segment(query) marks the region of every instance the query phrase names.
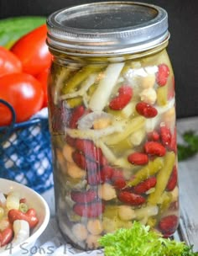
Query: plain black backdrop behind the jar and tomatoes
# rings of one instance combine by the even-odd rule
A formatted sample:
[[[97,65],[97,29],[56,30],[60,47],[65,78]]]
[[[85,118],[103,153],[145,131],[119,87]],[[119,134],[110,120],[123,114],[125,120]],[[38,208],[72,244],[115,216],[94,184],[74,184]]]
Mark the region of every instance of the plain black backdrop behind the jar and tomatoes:
[[[100,0],[0,0],[0,18],[45,15]],[[198,115],[198,0],[147,0],[169,13],[168,52],[175,70],[177,117]]]

